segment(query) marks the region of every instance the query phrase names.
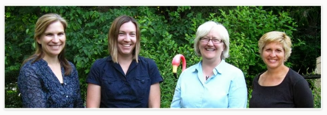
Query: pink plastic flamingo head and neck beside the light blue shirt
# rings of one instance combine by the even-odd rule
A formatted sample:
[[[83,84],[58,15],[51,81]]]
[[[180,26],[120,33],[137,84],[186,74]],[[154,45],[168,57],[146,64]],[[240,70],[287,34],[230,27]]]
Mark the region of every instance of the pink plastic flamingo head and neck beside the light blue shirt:
[[[185,57],[182,54],[177,54],[172,61],[173,64],[173,74],[175,78],[177,79],[177,68],[179,66],[180,60],[182,59],[182,71],[186,69],[186,60]]]

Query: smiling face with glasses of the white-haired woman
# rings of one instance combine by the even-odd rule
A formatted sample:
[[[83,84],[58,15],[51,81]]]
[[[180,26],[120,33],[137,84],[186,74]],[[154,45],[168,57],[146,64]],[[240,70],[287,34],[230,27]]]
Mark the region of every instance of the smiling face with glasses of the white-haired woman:
[[[219,31],[217,29],[212,28],[210,32],[204,36],[203,38],[207,39],[217,39],[221,40],[221,35],[219,34]],[[212,40],[205,43],[200,41],[199,44],[199,50],[201,52],[203,59],[219,59],[221,60],[222,52],[224,51],[224,42],[214,44],[212,43]]]

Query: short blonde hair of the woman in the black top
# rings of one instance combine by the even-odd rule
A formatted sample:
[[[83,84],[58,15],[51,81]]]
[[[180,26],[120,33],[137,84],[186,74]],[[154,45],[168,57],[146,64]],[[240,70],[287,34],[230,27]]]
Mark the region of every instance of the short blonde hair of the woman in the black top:
[[[258,42],[259,53],[262,57],[263,48],[269,43],[279,43],[283,45],[285,51],[285,61],[291,56],[292,53],[292,42],[289,36],[285,32],[270,31],[263,34]]]

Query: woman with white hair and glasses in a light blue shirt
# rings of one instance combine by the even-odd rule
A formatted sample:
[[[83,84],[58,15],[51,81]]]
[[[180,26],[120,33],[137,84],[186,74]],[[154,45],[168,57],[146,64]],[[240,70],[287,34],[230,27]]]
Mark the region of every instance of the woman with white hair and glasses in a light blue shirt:
[[[229,56],[226,28],[213,21],[200,25],[194,50],[202,60],[180,74],[171,108],[246,108],[243,72],[225,62]]]

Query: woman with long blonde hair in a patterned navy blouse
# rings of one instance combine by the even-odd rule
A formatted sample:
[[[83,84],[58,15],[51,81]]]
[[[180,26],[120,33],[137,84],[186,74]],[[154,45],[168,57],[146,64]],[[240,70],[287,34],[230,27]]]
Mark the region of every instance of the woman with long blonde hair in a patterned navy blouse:
[[[23,107],[84,107],[77,70],[64,55],[66,28],[58,14],[45,14],[36,22],[36,52],[24,60],[18,76]]]

